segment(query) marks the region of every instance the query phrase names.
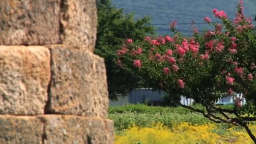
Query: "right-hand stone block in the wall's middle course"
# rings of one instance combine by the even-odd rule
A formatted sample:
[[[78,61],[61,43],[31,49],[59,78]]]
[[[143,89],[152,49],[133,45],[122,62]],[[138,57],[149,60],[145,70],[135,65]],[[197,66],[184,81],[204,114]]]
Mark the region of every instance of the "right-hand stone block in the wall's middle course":
[[[107,76],[104,59],[65,45],[51,51],[51,83],[46,113],[106,117]]]

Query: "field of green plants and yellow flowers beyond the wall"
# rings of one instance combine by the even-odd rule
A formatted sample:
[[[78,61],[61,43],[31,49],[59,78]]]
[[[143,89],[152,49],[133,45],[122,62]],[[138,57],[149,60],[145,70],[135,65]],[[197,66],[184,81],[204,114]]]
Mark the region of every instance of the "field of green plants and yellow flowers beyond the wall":
[[[203,109],[199,104],[192,107]],[[220,106],[232,109],[233,105]],[[251,143],[246,131],[238,126],[216,124],[183,107],[155,107],[145,104],[128,104],[119,107],[109,107],[108,118],[115,123],[115,143],[117,144],[240,144]],[[162,126],[155,126],[160,123]],[[251,125],[256,133],[256,125]],[[179,141],[181,140],[182,141]],[[189,140],[188,140],[189,139]],[[191,144],[192,144],[191,143]]]

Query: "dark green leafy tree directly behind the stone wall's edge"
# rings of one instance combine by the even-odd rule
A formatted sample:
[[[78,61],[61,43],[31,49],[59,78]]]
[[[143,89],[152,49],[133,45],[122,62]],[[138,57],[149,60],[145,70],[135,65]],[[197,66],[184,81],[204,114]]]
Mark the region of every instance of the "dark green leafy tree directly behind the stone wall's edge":
[[[110,0],[98,0],[98,32],[95,53],[105,59],[109,98],[116,94],[126,94],[139,86],[139,77],[117,67],[116,50],[120,49],[126,38],[143,40],[153,34],[154,28],[147,25],[150,17],[134,20],[134,13],[124,14],[123,9],[115,8]]]

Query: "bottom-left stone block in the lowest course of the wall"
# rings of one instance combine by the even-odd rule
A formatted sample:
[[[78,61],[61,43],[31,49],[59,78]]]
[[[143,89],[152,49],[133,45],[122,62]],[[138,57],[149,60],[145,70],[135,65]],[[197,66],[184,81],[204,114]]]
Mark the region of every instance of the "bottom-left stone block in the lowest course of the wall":
[[[43,127],[34,116],[0,115],[0,144],[42,144]]]

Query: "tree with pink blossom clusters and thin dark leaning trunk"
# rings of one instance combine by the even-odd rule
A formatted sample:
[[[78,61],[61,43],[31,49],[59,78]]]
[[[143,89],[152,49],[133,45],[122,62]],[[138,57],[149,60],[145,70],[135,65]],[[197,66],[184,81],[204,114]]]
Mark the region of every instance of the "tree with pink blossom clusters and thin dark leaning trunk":
[[[256,31],[252,19],[245,17],[242,4],[240,0],[234,21],[229,21],[224,11],[213,9],[223,24],[205,17],[215,29],[203,35],[193,25],[194,35],[186,39],[176,31],[174,21],[170,23],[174,37],[145,37],[143,42],[128,39],[117,51],[117,64],[142,77],[148,86],[168,93],[171,101],[179,103],[183,95],[202,104],[205,110],[179,103],[182,107],[216,123],[243,126],[256,143],[248,127],[248,122],[256,121]],[[237,93],[243,93],[247,104],[242,106]],[[227,95],[235,97],[233,109],[215,105]]]

